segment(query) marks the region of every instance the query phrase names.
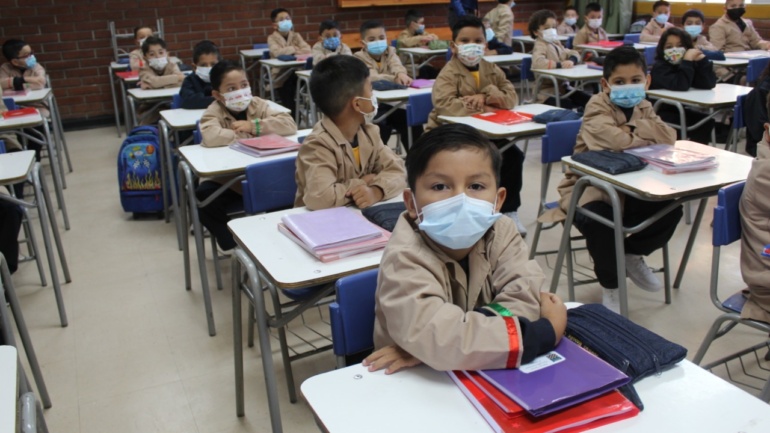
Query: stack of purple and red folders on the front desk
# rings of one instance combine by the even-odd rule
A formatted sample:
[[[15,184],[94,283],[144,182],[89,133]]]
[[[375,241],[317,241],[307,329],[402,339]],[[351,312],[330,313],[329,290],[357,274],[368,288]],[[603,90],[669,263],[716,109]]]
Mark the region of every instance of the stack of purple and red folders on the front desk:
[[[518,369],[449,376],[497,433],[580,432],[639,413],[617,390],[630,378],[566,338]]]

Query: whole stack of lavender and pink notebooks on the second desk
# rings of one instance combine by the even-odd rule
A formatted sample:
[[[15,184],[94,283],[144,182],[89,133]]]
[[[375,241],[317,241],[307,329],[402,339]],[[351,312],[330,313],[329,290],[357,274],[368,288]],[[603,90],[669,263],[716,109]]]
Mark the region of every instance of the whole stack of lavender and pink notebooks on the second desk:
[[[346,207],[285,215],[278,231],[326,263],[385,248],[390,232]]]

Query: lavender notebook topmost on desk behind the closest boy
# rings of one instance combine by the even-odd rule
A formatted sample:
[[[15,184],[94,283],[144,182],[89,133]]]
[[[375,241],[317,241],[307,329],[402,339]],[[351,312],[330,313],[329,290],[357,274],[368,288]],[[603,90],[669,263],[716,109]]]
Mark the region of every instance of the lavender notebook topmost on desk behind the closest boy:
[[[346,207],[285,215],[281,222],[313,250],[382,236],[379,227]]]

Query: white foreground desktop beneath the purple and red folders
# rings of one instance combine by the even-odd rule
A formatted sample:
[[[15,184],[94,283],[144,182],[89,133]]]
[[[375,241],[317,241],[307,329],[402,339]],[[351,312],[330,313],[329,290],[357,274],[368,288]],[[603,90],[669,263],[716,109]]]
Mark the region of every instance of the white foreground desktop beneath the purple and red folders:
[[[592,433],[770,431],[770,406],[687,360],[635,387],[644,411]],[[424,365],[392,375],[352,365],[311,377],[302,394],[329,433],[493,431],[445,372]]]

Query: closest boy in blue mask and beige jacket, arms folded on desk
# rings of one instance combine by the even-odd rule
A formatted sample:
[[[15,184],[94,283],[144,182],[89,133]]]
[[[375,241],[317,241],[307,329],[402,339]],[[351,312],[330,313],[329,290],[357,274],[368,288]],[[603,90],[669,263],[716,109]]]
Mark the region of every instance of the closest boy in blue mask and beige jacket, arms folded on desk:
[[[462,124],[425,133],[407,156],[407,211],[380,264],[370,371],[516,368],[561,339],[566,308],[540,292],[542,270],[501,218],[501,159]]]

